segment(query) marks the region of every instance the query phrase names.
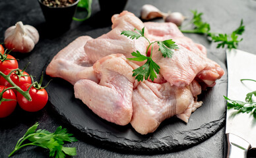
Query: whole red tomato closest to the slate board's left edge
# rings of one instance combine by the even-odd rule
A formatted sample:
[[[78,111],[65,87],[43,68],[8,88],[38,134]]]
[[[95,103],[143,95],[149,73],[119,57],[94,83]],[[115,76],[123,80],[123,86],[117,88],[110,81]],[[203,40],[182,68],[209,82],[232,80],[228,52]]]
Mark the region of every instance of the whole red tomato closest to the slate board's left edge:
[[[20,88],[23,91],[26,91],[30,85],[31,84],[23,84],[20,86]],[[24,111],[35,112],[43,109],[43,107],[46,106],[48,101],[48,93],[44,88],[41,90],[36,90],[36,88],[32,86],[32,88],[29,90],[29,94],[32,97],[32,101],[28,101],[22,94],[17,93],[18,105],[20,105]]]

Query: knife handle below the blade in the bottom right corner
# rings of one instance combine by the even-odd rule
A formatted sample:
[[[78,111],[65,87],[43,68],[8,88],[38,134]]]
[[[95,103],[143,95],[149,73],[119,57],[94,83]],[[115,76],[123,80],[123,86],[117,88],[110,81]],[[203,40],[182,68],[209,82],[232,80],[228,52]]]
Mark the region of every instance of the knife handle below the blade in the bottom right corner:
[[[247,151],[251,148],[251,144],[243,140],[243,138],[235,134],[226,134],[227,138],[227,158],[247,157]]]

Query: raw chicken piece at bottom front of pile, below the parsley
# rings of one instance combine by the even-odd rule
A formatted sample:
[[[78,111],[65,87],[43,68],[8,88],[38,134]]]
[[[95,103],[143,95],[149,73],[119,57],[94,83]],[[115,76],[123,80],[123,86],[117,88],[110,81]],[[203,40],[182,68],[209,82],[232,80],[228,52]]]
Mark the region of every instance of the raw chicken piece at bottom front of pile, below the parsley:
[[[133,90],[131,125],[140,134],[148,134],[154,132],[163,120],[174,115],[188,122],[192,109],[195,111],[201,104],[194,100],[189,86],[178,88],[168,82],[156,84],[143,81]]]

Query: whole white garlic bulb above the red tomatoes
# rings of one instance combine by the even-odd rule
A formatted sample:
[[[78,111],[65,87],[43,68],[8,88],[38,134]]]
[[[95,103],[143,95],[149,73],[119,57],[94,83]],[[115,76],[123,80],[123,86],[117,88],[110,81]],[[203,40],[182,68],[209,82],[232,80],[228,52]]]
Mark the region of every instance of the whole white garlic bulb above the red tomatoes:
[[[38,30],[33,26],[23,25],[21,21],[5,31],[5,47],[12,51],[28,53],[38,40]]]

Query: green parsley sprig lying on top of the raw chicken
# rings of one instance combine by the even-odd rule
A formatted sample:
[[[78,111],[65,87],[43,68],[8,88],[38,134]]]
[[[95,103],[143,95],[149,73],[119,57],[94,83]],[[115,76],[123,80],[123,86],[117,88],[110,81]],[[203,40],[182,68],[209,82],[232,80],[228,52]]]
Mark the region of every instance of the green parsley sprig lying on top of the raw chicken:
[[[139,39],[139,38],[145,38],[149,45],[146,49],[146,53],[148,52],[148,49],[151,47],[151,50],[153,50],[153,45],[154,43],[157,43],[159,46],[159,51],[162,53],[163,57],[169,57],[172,58],[172,55],[174,54],[174,51],[172,49],[179,49],[177,45],[175,44],[175,41],[172,41],[172,39],[168,39],[165,41],[153,41],[150,42],[148,38],[144,36],[144,28],[142,30],[137,30],[135,28],[135,31],[133,32],[130,30],[122,31],[121,35],[127,36],[127,38],[131,39]],[[133,58],[127,58],[131,61],[146,61],[143,66],[140,66],[139,68],[136,68],[133,70],[133,76],[136,76],[135,79],[138,81],[143,81],[147,80],[150,78],[150,80],[154,81],[154,78],[157,78],[156,74],[159,74],[160,72],[160,66],[157,65],[153,60],[152,60],[152,51],[150,53],[150,57],[147,57],[145,55],[142,55],[139,51],[136,51],[131,53],[133,55]]]

